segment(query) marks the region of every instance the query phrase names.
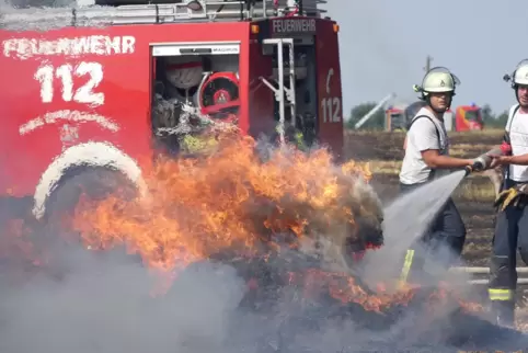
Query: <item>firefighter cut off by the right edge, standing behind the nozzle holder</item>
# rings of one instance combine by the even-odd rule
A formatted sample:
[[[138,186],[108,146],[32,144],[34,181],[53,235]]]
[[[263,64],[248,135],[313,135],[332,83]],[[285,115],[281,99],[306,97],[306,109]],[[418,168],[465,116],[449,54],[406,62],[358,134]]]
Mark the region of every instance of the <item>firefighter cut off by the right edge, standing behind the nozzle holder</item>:
[[[517,286],[516,250],[528,264],[528,59],[504,77],[512,81],[517,103],[509,109],[503,153],[492,166],[504,167],[502,192],[495,201],[497,215],[490,262],[489,296],[497,324],[513,327]]]

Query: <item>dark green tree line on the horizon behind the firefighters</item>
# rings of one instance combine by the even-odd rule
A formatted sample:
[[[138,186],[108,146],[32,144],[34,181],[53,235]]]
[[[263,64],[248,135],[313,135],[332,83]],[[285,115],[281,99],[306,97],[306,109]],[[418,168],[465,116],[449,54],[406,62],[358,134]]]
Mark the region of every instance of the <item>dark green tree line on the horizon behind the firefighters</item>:
[[[378,104],[377,102],[366,102],[354,106],[351,110],[349,118],[346,119],[346,128],[354,129],[354,125],[367,114],[372,107]],[[492,111],[489,104],[481,107],[482,119],[484,121],[484,128],[504,128],[508,119],[508,112],[495,113]],[[359,129],[366,130],[381,130],[384,129],[384,110],[378,110],[371,117],[363,124]]]

